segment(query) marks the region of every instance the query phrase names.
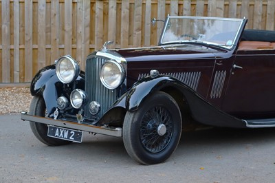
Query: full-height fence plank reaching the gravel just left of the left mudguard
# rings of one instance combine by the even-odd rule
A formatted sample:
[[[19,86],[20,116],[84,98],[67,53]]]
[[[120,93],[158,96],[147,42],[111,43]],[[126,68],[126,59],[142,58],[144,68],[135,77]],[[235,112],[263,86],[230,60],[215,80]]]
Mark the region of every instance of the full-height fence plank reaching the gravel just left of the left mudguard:
[[[25,1],[25,82],[32,80],[32,0]]]

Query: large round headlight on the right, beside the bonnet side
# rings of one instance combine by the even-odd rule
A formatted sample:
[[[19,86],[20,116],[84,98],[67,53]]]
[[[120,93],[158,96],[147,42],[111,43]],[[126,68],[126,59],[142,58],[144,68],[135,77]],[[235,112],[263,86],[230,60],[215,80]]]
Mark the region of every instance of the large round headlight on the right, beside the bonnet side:
[[[101,67],[100,80],[108,89],[115,89],[124,80],[124,69],[115,61],[106,61]]]

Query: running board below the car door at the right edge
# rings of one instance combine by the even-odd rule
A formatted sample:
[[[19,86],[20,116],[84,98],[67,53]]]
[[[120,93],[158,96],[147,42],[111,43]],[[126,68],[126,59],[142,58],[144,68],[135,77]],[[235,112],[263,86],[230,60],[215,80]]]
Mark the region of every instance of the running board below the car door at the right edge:
[[[243,120],[248,128],[268,128],[275,127],[275,118]]]

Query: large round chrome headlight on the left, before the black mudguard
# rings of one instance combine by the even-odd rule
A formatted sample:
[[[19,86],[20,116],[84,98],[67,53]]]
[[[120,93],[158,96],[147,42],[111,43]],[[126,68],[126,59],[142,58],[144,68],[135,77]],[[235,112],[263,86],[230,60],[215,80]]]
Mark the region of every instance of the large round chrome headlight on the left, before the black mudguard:
[[[80,74],[78,63],[71,56],[62,56],[56,63],[56,75],[62,83],[71,83]]]

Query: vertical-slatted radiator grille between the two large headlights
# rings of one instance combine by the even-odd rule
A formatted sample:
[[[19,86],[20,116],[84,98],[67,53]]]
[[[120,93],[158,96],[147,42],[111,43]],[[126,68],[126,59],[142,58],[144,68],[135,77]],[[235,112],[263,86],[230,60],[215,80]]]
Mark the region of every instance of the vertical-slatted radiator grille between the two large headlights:
[[[101,65],[104,63],[104,59],[93,57],[86,61],[86,73],[85,73],[85,92],[87,94],[87,103],[85,106],[85,117],[95,118],[89,113],[89,103],[91,101],[97,101],[100,103],[99,118],[113,105],[117,98],[117,90],[111,90],[104,87],[100,81]]]

